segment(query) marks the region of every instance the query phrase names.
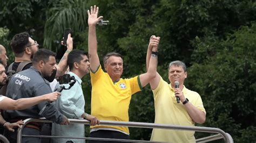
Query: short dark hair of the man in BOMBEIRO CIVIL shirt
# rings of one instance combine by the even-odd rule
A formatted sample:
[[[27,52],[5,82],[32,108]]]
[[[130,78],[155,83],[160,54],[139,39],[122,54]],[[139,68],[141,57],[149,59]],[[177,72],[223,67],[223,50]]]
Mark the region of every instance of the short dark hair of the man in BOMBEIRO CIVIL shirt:
[[[49,49],[38,49],[38,51],[33,56],[33,64],[39,61],[44,61],[44,63],[49,61],[50,56],[56,56],[56,53],[50,51]]]

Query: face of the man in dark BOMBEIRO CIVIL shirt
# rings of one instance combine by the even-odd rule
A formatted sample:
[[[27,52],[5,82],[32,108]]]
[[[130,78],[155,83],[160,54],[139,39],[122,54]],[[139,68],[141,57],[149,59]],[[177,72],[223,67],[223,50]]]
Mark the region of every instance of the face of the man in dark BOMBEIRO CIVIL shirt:
[[[55,63],[56,63],[56,59],[54,56],[50,56],[49,61],[43,63],[43,67],[41,70],[43,77],[51,76],[51,74],[53,73],[53,70],[55,70]]]

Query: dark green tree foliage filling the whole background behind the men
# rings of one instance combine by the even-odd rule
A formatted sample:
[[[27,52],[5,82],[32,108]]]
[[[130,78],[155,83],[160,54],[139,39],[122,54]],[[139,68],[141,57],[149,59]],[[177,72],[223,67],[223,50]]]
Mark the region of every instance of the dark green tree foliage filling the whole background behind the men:
[[[0,27],[10,30],[8,41],[16,33],[29,31],[39,44],[44,43],[53,51],[66,27],[73,29],[75,47],[87,51],[86,10],[96,4],[99,16],[110,21],[107,26],[97,26],[98,55],[103,60],[108,52],[122,54],[123,78],[146,71],[149,38],[153,34],[160,36],[158,72],[167,81],[169,62],[186,63],[186,87],[199,92],[207,110],[203,126],[219,127],[230,133],[235,142],[250,142],[255,137],[255,24],[252,22],[256,20],[256,2],[0,1]],[[83,81],[85,111],[90,112],[90,77],[84,77]],[[149,85],[133,95],[129,115],[131,121],[153,123],[154,102]],[[131,139],[149,140],[151,136],[151,130],[146,129],[130,128],[130,133]],[[197,138],[205,136],[196,134]]]

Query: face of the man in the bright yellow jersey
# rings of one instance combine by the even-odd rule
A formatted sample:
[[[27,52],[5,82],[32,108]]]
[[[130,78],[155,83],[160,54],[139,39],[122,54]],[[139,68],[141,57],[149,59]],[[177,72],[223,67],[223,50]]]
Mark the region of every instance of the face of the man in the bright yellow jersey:
[[[119,56],[110,56],[104,67],[112,79],[118,80],[123,73],[123,59]]]

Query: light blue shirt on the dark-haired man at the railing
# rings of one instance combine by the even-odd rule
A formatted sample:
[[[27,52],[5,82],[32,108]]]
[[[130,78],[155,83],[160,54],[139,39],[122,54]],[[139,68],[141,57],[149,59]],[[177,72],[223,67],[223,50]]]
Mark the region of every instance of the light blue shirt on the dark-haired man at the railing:
[[[60,98],[56,101],[56,106],[63,115],[69,119],[82,118],[84,113],[84,94],[82,90],[82,80],[74,73],[68,72],[69,75],[75,76],[77,82],[69,90],[62,90]],[[65,85],[69,87],[69,85]],[[52,135],[65,137],[84,137],[83,124],[70,124],[68,126],[52,124]],[[53,138],[52,142],[85,142],[83,139],[61,139]]]

